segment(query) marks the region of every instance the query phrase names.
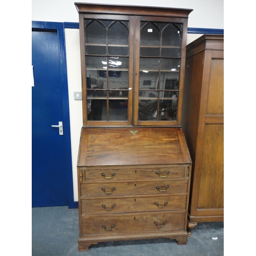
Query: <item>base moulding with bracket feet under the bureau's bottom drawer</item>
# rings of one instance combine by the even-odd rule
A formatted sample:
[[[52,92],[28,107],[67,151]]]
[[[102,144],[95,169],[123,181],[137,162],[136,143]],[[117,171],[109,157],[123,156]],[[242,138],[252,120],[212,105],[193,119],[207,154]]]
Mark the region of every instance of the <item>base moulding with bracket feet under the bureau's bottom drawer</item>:
[[[119,234],[119,235],[111,235],[108,238],[105,236],[97,236],[95,237],[82,237],[78,239],[78,250],[79,251],[88,251],[89,246],[93,244],[97,244],[99,242],[109,242],[109,241],[124,241],[124,240],[142,240],[142,239],[155,239],[155,238],[168,238],[170,240],[175,239],[178,245],[186,245],[187,244],[187,232],[163,232],[163,233],[130,233],[127,234]]]

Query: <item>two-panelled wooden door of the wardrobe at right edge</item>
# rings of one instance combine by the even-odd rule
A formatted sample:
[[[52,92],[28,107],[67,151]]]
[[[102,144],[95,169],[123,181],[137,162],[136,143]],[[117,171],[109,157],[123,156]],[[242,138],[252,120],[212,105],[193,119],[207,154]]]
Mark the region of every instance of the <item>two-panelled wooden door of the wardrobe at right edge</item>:
[[[223,218],[223,51],[205,51],[190,216]],[[209,219],[210,220],[210,219]]]

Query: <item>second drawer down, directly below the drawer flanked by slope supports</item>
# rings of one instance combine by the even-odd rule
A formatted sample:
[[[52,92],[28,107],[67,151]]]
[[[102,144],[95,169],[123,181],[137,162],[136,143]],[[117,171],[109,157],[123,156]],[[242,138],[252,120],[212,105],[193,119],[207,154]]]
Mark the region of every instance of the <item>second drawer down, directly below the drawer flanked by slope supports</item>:
[[[81,197],[186,193],[187,180],[82,183]]]

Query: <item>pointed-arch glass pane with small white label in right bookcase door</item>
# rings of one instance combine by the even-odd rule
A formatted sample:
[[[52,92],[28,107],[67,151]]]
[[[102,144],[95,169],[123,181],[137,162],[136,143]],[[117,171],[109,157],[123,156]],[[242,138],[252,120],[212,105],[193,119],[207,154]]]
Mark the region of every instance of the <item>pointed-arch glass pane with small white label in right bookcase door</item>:
[[[140,31],[140,45],[141,46],[158,46],[160,47],[160,30],[152,22],[147,23]]]

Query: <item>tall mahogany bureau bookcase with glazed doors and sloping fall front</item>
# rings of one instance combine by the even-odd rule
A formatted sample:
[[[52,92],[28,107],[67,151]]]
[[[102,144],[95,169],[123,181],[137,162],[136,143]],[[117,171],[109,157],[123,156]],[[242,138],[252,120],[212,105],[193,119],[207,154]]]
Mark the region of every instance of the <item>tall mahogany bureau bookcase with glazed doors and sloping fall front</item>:
[[[181,127],[190,9],[75,3],[82,110],[79,250],[187,243],[191,159]]]

